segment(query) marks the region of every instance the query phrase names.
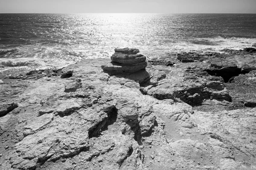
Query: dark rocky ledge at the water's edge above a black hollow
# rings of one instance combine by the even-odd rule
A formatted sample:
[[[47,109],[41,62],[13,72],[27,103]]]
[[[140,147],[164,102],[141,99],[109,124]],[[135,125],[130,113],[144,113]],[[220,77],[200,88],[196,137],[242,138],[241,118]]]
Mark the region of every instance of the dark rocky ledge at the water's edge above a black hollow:
[[[206,68],[212,76],[222,77],[224,82],[228,82],[232,77],[239,74],[246,74],[256,69],[256,60],[253,51],[255,48],[244,48],[244,50],[224,49],[224,53],[198,53],[189,52],[177,54],[177,59],[181,62],[206,62],[210,67]]]

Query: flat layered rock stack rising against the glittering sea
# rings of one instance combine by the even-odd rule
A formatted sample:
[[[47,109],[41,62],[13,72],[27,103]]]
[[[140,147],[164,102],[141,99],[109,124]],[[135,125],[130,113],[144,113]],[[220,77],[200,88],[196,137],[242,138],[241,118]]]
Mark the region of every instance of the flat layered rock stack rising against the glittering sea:
[[[130,74],[144,70],[147,66],[146,57],[137,54],[139,52],[136,48],[116,48],[111,56],[112,62],[102,65],[102,69],[112,74]]]

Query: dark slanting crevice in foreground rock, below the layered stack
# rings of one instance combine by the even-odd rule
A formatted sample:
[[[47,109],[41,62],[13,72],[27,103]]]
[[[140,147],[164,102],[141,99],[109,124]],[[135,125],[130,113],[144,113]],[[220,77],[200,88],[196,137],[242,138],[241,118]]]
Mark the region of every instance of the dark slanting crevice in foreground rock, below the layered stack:
[[[104,119],[102,122],[99,122],[94,127],[89,129],[89,138],[99,137],[100,133],[104,130],[108,130],[108,126],[112,125],[116,122],[117,119],[117,111],[116,107],[113,107],[110,111],[108,111],[108,117]]]

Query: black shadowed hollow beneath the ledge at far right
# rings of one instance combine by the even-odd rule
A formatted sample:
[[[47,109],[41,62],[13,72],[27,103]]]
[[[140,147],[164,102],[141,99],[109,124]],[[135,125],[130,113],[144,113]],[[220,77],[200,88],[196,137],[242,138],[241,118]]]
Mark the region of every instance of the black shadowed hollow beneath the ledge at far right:
[[[211,76],[222,77],[224,82],[229,82],[232,77],[239,76],[239,74],[247,74],[249,71],[241,70],[241,68],[222,68],[216,70],[206,70]]]

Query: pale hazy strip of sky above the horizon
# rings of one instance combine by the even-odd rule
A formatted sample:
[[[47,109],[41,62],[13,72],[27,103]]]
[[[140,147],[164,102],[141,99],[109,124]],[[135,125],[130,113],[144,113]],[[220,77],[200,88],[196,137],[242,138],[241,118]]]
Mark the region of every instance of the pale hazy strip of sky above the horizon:
[[[0,0],[0,13],[256,13],[256,0]]]

